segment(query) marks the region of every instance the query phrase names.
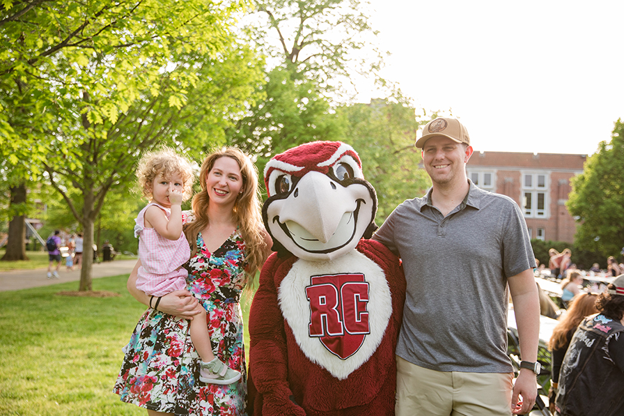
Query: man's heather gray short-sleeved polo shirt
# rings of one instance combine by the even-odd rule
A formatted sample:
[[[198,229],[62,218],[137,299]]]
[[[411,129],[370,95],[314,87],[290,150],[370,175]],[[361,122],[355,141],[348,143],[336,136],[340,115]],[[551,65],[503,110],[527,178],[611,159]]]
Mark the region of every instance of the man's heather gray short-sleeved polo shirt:
[[[446,217],[429,190],[401,203],[373,238],[405,269],[397,355],[437,371],[506,373],[507,278],[536,267],[535,256],[517,203],[469,184]]]

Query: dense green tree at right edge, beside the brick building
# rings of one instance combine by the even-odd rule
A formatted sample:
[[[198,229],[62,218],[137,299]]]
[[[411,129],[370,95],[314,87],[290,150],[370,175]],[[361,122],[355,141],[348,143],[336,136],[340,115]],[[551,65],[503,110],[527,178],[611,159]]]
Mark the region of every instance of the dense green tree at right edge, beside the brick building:
[[[588,157],[584,171],[572,178],[566,206],[578,227],[575,242],[589,252],[618,256],[624,247],[624,123],[618,119],[608,143]]]

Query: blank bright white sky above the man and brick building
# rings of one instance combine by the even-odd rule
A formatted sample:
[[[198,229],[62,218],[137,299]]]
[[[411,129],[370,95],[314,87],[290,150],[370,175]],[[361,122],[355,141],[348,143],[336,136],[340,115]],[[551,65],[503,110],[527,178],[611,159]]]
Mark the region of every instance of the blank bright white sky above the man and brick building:
[[[384,77],[476,151],[591,155],[624,119],[622,0],[370,3]]]

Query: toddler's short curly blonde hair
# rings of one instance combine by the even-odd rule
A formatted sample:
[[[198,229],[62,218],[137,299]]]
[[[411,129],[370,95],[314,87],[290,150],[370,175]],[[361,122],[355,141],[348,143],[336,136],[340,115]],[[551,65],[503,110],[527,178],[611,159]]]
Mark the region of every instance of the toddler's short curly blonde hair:
[[[171,148],[162,148],[159,151],[148,152],[139,160],[137,167],[137,179],[139,180],[139,190],[147,199],[152,199],[153,180],[158,174],[164,178],[169,178],[171,174],[178,172],[184,182],[184,192],[182,200],[186,201],[193,193],[193,181],[195,173],[188,160],[178,155]]]

